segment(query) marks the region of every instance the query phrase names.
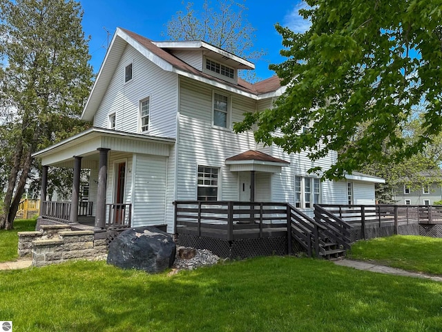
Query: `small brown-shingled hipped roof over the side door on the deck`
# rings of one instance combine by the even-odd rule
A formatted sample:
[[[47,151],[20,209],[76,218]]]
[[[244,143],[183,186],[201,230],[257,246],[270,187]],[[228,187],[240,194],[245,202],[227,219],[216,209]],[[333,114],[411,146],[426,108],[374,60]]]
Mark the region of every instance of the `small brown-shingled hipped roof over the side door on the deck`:
[[[290,163],[261,151],[249,150],[227,158],[226,165],[230,165],[231,172],[258,171],[279,173],[281,172],[281,167],[288,166]]]

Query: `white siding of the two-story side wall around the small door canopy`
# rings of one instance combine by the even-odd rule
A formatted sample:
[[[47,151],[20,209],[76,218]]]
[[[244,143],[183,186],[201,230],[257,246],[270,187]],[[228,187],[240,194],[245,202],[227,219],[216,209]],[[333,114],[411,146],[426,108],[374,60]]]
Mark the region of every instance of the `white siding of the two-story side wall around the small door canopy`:
[[[230,129],[212,127],[212,89],[182,79],[180,95],[180,137],[178,139],[177,199],[196,199],[198,165],[219,167],[218,199],[238,199],[238,174],[230,172],[225,160],[249,149],[256,149],[252,133],[233,133]],[[231,120],[242,120],[242,114],[254,111],[256,102],[231,95]]]

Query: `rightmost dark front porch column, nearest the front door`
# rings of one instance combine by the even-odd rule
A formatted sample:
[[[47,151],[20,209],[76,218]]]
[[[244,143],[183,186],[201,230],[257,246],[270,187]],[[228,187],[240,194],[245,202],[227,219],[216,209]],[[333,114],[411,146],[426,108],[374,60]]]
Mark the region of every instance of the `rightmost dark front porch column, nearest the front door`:
[[[106,183],[108,181],[108,151],[99,147],[99,170],[97,187],[97,211],[95,213],[95,228],[106,226]]]

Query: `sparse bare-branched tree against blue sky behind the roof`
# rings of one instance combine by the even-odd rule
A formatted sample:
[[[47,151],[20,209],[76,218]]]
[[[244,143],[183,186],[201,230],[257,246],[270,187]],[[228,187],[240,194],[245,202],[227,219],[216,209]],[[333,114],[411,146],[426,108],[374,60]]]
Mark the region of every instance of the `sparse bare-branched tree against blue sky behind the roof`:
[[[218,8],[212,8],[209,1],[204,0],[202,11],[198,11],[188,2],[186,12],[177,11],[167,22],[166,35],[173,40],[203,40],[249,60],[265,55],[263,50],[253,50],[256,28],[247,21],[245,0],[243,3],[218,0],[217,3]],[[251,75],[247,78],[254,79]]]

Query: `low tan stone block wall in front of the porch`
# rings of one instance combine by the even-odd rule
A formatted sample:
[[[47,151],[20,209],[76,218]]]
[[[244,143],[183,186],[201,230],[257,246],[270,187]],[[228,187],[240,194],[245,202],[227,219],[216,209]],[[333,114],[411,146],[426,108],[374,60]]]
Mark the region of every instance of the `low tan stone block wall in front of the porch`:
[[[106,259],[106,239],[95,239],[93,230],[71,230],[69,225],[41,225],[35,232],[19,232],[19,256],[32,257],[33,266],[73,259]]]

